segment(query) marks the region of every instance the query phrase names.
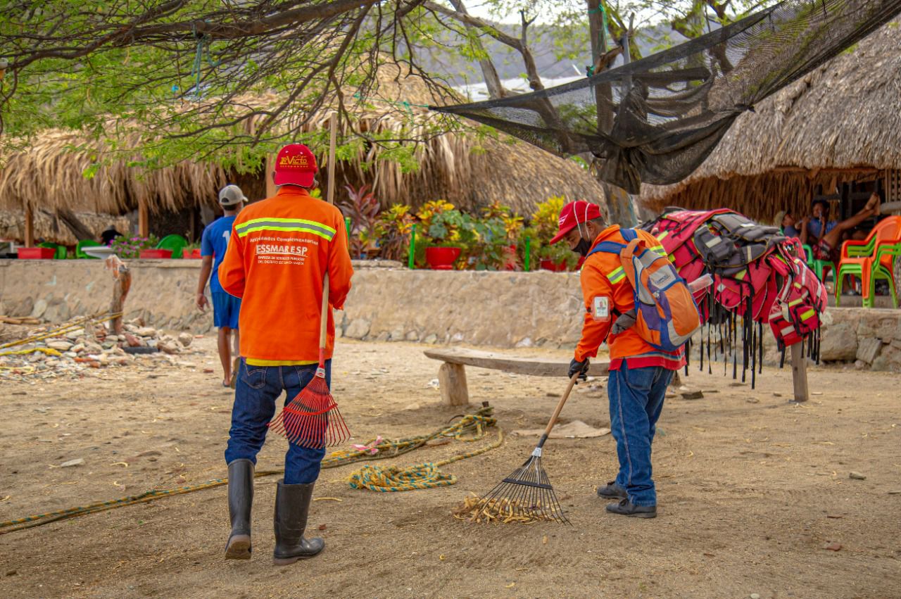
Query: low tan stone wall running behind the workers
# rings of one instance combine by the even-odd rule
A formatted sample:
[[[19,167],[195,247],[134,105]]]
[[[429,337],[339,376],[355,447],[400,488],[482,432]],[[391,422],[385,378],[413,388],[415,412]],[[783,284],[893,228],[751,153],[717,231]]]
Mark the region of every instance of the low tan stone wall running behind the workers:
[[[151,326],[210,331],[194,292],[200,260],[132,260],[129,316]],[[355,262],[339,334],[352,339],[463,342],[500,348],[574,347],[581,295],[573,273],[373,268]],[[105,311],[113,280],[101,260],[0,260],[0,313],[59,322]],[[764,337],[771,361],[775,340]],[[901,370],[901,311],[831,308],[822,357],[858,368]]]

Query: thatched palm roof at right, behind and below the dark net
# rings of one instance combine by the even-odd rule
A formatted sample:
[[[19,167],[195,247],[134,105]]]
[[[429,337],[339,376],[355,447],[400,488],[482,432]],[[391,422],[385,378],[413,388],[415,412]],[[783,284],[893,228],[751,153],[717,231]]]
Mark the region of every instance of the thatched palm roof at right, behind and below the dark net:
[[[659,210],[728,206],[758,219],[804,213],[816,186],[901,168],[901,37],[889,23],[743,113],[684,181],[642,186]]]

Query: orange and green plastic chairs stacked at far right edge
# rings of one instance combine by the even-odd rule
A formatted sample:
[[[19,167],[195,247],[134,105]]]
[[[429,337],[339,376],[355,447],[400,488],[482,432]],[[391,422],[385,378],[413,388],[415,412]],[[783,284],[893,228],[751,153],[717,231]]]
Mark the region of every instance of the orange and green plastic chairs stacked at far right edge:
[[[876,296],[876,281],[888,282],[892,304],[898,307],[896,280],[892,262],[901,256],[901,216],[887,216],[869,231],[864,241],[842,243],[842,259],[835,277],[835,305],[840,305],[844,277],[860,277],[863,307],[871,308]]]

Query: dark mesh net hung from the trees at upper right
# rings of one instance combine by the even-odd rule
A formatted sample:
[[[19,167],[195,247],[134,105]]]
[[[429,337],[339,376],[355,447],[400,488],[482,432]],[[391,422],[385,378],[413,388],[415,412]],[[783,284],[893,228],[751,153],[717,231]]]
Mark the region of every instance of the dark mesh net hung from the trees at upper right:
[[[433,110],[554,154],[594,157],[630,193],[687,177],[735,118],[901,12],[901,0],[786,0],[675,48],[567,85]]]

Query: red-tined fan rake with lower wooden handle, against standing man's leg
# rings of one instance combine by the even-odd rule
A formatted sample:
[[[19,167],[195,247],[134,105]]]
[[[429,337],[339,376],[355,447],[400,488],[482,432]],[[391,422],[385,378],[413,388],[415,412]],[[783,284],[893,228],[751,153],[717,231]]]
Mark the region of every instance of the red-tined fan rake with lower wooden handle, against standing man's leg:
[[[350,431],[325,382],[325,335],[329,320],[329,276],[323,281],[323,312],[319,326],[319,368],[316,375],[290,404],[269,422],[269,429],[306,448],[339,445],[350,439]]]

